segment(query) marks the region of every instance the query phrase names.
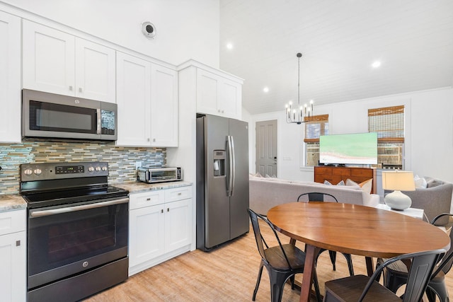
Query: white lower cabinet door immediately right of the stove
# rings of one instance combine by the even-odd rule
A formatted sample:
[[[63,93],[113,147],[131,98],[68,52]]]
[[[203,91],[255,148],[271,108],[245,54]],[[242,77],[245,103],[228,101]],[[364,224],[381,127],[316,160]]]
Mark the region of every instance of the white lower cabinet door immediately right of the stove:
[[[129,214],[129,266],[164,253],[164,204],[134,209]]]

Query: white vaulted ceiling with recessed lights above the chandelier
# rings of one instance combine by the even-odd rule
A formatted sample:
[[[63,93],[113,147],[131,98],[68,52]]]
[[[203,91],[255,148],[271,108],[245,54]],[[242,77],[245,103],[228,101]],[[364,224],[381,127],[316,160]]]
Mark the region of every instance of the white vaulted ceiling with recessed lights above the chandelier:
[[[315,110],[450,87],[453,0],[220,0],[220,69],[245,80],[248,112],[297,103],[297,52],[300,103]]]

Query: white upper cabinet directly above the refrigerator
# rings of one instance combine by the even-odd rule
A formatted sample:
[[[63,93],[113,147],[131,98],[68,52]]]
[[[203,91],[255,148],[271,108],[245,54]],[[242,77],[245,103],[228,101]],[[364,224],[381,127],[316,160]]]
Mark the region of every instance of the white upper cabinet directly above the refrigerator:
[[[242,83],[197,69],[197,112],[241,119]]]

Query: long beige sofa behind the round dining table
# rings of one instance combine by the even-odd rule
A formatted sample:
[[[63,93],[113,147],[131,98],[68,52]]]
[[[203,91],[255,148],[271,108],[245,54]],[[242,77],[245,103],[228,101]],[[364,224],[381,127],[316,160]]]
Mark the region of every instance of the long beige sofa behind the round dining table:
[[[250,177],[249,207],[260,214],[267,214],[269,209],[286,202],[297,202],[302,193],[321,192],[332,194],[338,202],[363,204],[375,207],[379,204],[379,195],[363,192],[360,187],[346,185],[323,185],[319,182],[282,180],[280,178]]]

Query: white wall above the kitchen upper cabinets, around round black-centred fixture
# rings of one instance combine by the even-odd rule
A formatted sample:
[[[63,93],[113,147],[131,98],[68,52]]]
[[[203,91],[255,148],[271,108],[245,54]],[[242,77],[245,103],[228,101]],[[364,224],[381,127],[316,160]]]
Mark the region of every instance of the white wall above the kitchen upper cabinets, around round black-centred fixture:
[[[195,59],[219,66],[219,0],[3,0],[1,3],[173,65]],[[156,26],[154,40],[142,35],[144,21]]]

